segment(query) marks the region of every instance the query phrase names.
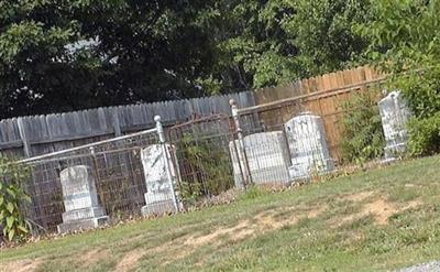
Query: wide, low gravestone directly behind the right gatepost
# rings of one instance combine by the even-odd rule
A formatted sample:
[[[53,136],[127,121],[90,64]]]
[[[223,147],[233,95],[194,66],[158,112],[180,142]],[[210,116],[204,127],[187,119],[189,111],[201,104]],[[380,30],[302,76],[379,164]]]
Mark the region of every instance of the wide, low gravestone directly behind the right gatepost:
[[[243,139],[249,172],[254,184],[288,183],[288,166],[290,156],[286,138],[282,131],[262,132],[246,135]],[[232,160],[234,183],[237,187],[243,187],[242,172],[246,165],[245,159],[237,152],[239,141],[229,143]],[[241,167],[240,163],[241,162]]]

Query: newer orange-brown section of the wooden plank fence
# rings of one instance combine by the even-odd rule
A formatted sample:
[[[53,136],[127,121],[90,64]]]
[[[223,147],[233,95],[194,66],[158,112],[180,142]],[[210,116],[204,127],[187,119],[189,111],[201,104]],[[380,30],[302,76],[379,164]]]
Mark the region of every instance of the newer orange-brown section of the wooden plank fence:
[[[340,159],[343,132],[342,105],[356,94],[371,88],[381,88],[385,76],[364,66],[341,70],[290,85],[260,89],[255,94],[256,106],[241,106],[242,115],[258,115],[266,128],[282,130],[282,126],[296,115],[311,111],[322,118],[330,153]]]

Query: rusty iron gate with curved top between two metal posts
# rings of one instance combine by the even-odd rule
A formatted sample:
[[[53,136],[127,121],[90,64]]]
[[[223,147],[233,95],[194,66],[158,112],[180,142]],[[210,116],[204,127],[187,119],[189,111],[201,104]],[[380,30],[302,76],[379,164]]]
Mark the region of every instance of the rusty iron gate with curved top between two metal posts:
[[[187,204],[234,186],[231,152],[234,128],[226,115],[197,118],[172,127],[168,137],[178,167],[178,191]]]

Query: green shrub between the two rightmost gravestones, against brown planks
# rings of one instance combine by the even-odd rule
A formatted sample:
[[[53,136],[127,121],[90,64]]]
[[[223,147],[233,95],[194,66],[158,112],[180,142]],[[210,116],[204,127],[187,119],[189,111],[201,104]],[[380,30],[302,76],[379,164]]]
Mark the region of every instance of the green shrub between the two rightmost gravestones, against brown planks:
[[[363,163],[383,154],[385,139],[375,96],[371,91],[359,91],[341,105],[345,111],[341,141],[343,163]]]

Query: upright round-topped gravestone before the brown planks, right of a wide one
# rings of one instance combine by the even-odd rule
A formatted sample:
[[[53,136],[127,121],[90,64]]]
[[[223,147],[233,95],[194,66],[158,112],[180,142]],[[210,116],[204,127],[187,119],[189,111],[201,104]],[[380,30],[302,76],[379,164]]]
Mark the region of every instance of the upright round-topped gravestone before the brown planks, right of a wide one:
[[[311,174],[334,170],[319,116],[304,112],[287,121],[284,127],[292,156],[292,179],[308,178]]]

